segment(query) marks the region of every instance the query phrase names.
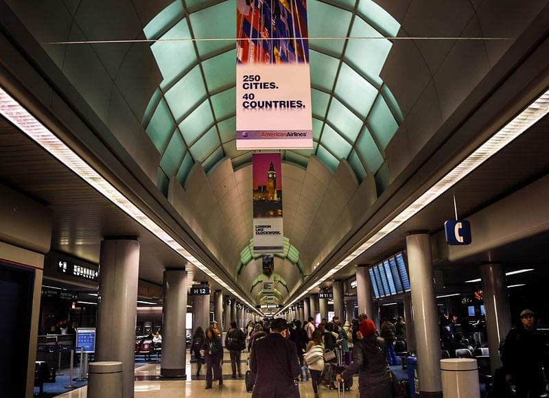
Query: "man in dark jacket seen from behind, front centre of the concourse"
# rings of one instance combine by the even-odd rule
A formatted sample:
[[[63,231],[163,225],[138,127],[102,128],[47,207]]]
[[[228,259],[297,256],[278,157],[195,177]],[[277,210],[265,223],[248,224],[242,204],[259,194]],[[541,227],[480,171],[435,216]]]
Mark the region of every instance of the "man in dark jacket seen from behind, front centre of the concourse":
[[[252,347],[250,370],[257,375],[252,398],[299,398],[294,379],[301,374],[296,344],[286,338],[288,323],[275,318],[270,333]]]

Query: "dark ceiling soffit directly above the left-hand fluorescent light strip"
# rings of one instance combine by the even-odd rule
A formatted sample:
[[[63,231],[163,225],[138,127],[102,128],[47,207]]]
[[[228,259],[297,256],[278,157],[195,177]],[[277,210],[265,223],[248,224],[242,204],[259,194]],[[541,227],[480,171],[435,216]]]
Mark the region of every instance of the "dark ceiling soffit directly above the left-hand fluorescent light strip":
[[[233,282],[231,275],[224,270],[218,259],[200,242],[194,231],[95,115],[8,5],[1,0],[0,48],[5,55],[0,60],[0,84],[78,156],[119,189],[130,202],[167,233],[178,238],[178,242],[202,264],[207,265],[242,296],[252,300]],[[67,106],[73,116],[70,120],[60,120],[51,113],[47,102],[51,102],[52,98],[38,98],[26,89],[33,87],[37,81],[47,85]],[[159,244],[163,243],[159,241]],[[182,257],[182,263],[184,262]]]

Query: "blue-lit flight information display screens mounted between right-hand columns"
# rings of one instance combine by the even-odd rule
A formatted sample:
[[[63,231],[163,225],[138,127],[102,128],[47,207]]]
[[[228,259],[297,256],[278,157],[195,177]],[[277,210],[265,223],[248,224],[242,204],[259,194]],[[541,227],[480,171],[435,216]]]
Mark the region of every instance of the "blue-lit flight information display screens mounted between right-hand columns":
[[[379,297],[410,292],[410,279],[404,262],[404,253],[397,253],[369,270],[373,294]]]

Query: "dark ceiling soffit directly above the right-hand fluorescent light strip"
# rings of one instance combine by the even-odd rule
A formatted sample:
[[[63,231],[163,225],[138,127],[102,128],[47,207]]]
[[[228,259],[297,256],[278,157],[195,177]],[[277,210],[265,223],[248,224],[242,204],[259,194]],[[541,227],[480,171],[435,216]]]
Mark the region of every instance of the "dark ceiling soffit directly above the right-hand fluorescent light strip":
[[[506,54],[458,106],[432,139],[364,213],[359,229],[347,233],[296,290],[301,294],[352,253],[449,170],[487,141],[549,86],[549,7],[515,40]]]

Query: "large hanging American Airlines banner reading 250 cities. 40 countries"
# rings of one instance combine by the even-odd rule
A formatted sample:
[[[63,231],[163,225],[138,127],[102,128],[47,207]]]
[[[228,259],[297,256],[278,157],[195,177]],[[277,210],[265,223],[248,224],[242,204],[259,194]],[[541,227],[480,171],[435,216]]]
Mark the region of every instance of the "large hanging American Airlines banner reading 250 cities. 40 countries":
[[[237,0],[236,147],[313,148],[307,3]]]

